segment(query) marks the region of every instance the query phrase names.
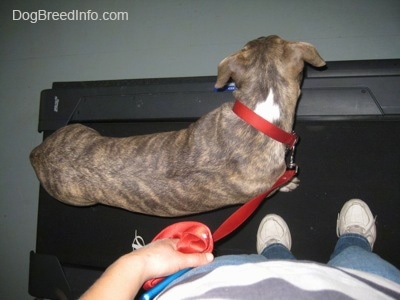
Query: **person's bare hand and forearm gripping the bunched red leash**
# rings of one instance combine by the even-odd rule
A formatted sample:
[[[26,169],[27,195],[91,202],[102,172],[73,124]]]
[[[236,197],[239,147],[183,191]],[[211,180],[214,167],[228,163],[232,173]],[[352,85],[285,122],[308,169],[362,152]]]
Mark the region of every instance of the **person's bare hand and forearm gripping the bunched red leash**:
[[[179,239],[160,239],[117,259],[81,296],[81,300],[132,299],[143,283],[211,262],[211,253],[185,254]]]

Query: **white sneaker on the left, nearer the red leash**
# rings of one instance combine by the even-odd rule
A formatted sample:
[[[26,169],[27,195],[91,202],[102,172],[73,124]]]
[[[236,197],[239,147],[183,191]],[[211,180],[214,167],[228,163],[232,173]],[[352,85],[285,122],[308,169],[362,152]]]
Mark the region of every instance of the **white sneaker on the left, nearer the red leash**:
[[[280,243],[290,250],[292,237],[285,220],[280,216],[269,214],[261,220],[257,231],[257,253],[260,254],[271,244]]]

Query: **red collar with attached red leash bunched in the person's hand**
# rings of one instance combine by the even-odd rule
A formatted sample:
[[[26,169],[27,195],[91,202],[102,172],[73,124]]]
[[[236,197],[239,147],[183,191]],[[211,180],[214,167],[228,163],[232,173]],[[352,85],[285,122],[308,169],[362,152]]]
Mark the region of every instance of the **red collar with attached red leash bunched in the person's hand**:
[[[293,157],[297,135],[294,132],[287,133],[274,124],[268,122],[240,101],[235,102],[232,110],[238,115],[238,117],[258,131],[287,146],[291,155],[286,171],[278,178],[270,189],[239,207],[212,235],[210,229],[205,224],[188,221],[175,223],[166,227],[153,239],[153,241],[163,238],[176,238],[179,239],[177,244],[178,251],[183,253],[211,252],[214,248],[214,242],[226,237],[228,234],[236,230],[253,214],[265,197],[280,186],[288,183],[296,175],[297,166],[293,162]],[[145,282],[143,288],[147,290],[162,280],[163,278],[149,280]]]

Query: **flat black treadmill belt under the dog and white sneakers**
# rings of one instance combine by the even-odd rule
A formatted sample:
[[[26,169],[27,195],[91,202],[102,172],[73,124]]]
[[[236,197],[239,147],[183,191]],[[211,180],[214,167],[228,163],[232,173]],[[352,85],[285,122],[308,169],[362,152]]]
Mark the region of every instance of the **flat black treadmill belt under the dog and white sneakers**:
[[[160,128],[165,128],[159,124]],[[92,124],[105,135],[129,135],[146,124]],[[153,125],[154,128],[156,127]],[[179,123],[176,128],[186,126]],[[173,128],[170,124],[170,129]],[[154,129],[153,128],[153,129]],[[390,130],[388,130],[390,128]],[[117,132],[113,132],[117,130]],[[280,214],[293,236],[293,253],[300,259],[326,262],[336,241],[336,217],[353,197],[365,200],[378,215],[378,254],[400,266],[393,249],[400,218],[398,152],[400,123],[394,121],[298,122],[300,142],[296,162],[300,186],[265,200],[255,215],[232,236],[216,244],[218,254],[255,253],[258,224],[267,213]],[[42,190],[37,251],[57,253],[68,264],[104,268],[130,251],[135,230],[149,242],[161,229],[181,220],[199,220],[215,230],[237,207],[182,218],[161,218],[96,205],[62,204]],[[53,224],[53,226],[47,226]],[[95,234],[94,234],[95,233]]]

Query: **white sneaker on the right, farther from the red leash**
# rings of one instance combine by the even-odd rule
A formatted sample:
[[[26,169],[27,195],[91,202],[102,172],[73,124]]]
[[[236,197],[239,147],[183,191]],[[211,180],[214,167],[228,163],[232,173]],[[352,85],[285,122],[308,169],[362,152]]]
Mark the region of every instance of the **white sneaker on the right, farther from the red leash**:
[[[375,219],[364,201],[349,200],[338,215],[336,234],[338,237],[345,233],[360,234],[368,240],[372,249],[376,240]]]

